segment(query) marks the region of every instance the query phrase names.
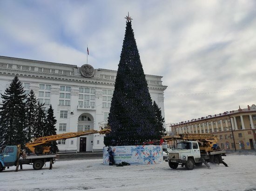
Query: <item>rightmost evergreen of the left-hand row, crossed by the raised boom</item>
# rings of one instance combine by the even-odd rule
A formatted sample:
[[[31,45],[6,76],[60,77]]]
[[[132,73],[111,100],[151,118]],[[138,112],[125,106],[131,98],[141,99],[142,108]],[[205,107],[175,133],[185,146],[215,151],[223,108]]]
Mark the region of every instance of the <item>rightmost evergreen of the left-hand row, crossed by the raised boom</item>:
[[[55,128],[55,124],[56,124],[57,120],[54,117],[54,109],[52,108],[52,105],[50,105],[50,108],[48,108],[47,110],[47,116],[46,116],[46,125],[45,125],[45,130],[44,130],[44,136],[49,136],[49,135],[54,135],[56,134],[56,128]],[[57,142],[53,141],[49,144],[47,144],[47,146],[51,146],[50,151],[52,153],[57,153],[59,152],[58,146],[57,146]]]

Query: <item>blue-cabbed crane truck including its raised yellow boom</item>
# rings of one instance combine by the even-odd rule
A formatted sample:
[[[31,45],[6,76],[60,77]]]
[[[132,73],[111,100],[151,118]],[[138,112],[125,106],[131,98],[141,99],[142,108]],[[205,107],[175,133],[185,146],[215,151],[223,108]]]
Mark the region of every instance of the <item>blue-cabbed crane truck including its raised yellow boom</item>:
[[[18,146],[6,146],[3,153],[0,154],[0,172],[5,170],[6,167],[16,166],[22,169],[22,165],[33,165],[34,170],[40,170],[46,162],[50,162],[50,168],[54,164],[55,159],[59,158],[59,155],[50,153],[50,147],[46,146],[47,143],[61,140],[70,139],[74,137],[80,137],[89,134],[108,134],[111,132],[110,127],[100,127],[100,131],[88,130],[82,132],[66,133],[66,134],[55,134],[45,137],[35,138],[25,146],[34,154],[27,155],[20,151],[20,145]]]

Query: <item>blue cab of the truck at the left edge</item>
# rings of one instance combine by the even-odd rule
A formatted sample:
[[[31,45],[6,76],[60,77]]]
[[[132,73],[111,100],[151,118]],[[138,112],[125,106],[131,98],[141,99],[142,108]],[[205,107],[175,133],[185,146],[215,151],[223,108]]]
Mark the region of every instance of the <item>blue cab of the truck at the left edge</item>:
[[[0,154],[0,171],[5,167],[14,166],[17,160],[17,146],[7,146],[3,153]]]

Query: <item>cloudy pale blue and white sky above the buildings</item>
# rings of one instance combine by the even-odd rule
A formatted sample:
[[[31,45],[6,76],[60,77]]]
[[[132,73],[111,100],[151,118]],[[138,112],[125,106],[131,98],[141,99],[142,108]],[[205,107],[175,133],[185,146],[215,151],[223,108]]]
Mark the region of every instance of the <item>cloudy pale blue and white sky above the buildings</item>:
[[[166,123],[256,104],[255,0],[0,0],[0,55],[117,70],[128,11]]]

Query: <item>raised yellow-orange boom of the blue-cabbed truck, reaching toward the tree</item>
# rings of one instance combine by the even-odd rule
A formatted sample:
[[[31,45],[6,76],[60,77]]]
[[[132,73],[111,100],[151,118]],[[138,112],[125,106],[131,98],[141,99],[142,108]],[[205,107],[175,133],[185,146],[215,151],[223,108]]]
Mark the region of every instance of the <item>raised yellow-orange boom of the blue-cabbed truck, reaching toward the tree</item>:
[[[50,146],[45,146],[45,144],[61,140],[61,139],[70,139],[74,137],[80,137],[84,135],[89,134],[108,134],[111,132],[110,127],[101,127],[100,131],[97,130],[88,130],[88,131],[82,131],[82,132],[73,132],[73,133],[66,133],[66,134],[55,134],[45,137],[39,137],[32,140],[32,142],[27,143],[25,146],[31,150],[33,153],[36,154],[45,154],[50,152]]]

